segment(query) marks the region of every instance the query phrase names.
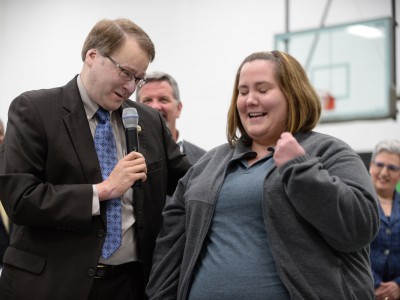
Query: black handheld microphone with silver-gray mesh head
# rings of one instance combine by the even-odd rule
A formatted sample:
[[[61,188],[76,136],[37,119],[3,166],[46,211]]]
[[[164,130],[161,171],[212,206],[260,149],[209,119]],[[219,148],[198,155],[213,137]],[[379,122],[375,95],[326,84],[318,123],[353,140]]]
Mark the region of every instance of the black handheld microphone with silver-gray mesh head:
[[[122,123],[125,127],[125,138],[126,138],[126,151],[131,153],[132,151],[139,152],[139,115],[136,108],[127,107],[122,111]],[[139,130],[138,130],[139,129]],[[135,181],[132,187],[140,186],[140,180]]]

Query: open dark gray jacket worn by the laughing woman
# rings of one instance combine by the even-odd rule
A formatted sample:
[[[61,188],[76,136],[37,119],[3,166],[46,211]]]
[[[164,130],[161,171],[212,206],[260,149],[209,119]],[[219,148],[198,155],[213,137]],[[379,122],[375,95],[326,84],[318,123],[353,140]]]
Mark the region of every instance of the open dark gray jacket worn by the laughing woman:
[[[334,137],[310,132],[296,139],[306,155],[274,167],[263,198],[269,243],[290,299],[374,299],[369,244],[379,215],[367,169]],[[249,152],[240,141],[235,148],[221,145],[180,180],[164,208],[150,299],[187,298],[227,167]]]

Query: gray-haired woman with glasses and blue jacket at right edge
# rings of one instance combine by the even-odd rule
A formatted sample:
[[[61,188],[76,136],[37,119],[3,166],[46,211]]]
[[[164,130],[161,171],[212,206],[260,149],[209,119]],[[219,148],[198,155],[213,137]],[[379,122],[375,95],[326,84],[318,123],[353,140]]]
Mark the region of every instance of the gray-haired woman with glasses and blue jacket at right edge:
[[[379,233],[371,244],[377,300],[400,299],[400,141],[379,142],[369,168],[379,198]]]

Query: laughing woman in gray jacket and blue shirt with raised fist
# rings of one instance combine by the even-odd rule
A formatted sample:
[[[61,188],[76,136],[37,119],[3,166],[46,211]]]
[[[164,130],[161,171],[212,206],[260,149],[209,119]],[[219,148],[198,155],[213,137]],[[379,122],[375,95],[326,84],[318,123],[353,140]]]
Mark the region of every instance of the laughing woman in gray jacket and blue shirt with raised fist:
[[[359,156],[313,132],[318,96],[290,55],[236,74],[228,143],[206,153],[164,209],[150,299],[373,299],[379,227]]]

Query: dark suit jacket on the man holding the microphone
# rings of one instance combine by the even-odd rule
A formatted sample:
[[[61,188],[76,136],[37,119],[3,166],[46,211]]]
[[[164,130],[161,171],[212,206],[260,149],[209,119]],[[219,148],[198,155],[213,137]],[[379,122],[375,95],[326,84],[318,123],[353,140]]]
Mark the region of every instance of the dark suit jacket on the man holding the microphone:
[[[138,111],[147,164],[147,181],[134,189],[146,283],[166,193],[190,164],[157,111],[130,100],[124,106]],[[92,184],[101,181],[76,77],[11,103],[0,146],[0,199],[14,227],[0,299],[87,299],[105,239],[104,210],[92,216]]]

